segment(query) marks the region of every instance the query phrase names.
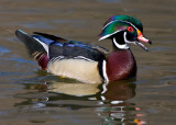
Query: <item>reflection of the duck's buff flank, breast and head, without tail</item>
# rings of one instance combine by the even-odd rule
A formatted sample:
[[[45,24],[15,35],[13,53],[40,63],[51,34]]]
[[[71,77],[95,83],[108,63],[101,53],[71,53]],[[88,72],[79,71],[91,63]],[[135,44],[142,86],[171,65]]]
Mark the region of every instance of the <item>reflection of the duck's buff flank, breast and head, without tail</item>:
[[[102,124],[142,124],[144,121],[141,109],[125,100],[135,96],[135,83],[118,81],[103,84],[50,82],[48,91],[75,96],[76,99],[97,100],[96,113],[102,118]],[[81,106],[82,107],[82,106]],[[84,106],[86,107],[86,106]],[[88,106],[87,106],[88,107]],[[133,112],[133,113],[132,113]]]

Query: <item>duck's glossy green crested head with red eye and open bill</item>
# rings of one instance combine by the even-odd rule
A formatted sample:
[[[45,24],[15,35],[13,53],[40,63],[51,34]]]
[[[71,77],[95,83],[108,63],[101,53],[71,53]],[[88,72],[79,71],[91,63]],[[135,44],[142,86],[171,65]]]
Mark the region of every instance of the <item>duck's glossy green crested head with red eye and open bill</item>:
[[[99,36],[99,41],[106,38],[112,39],[114,46],[119,49],[129,49],[129,44],[133,43],[147,50],[140,42],[152,44],[152,42],[143,35],[142,23],[138,19],[128,15],[111,16],[105,23]]]

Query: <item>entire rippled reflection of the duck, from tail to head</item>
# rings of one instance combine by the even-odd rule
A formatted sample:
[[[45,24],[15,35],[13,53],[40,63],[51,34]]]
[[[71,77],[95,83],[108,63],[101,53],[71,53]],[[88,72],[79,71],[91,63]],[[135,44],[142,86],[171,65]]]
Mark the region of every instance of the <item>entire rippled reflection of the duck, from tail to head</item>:
[[[136,84],[133,81],[103,84],[63,81],[25,83],[25,89],[38,91],[15,95],[25,99],[15,104],[20,107],[19,112],[38,113],[40,111],[41,113],[42,111],[44,114],[47,112],[52,115],[57,107],[77,111],[94,109],[95,114],[101,118],[102,125],[145,123],[141,109],[127,101],[135,96]],[[28,110],[26,105],[29,105]]]

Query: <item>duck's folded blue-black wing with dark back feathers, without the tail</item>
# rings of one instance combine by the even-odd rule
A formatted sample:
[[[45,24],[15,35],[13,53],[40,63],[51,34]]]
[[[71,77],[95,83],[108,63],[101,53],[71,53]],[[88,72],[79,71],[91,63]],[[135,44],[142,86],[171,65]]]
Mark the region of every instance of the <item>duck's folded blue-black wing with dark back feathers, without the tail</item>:
[[[94,44],[68,41],[46,33],[34,32],[34,34],[36,35],[33,35],[33,37],[37,38],[41,42],[46,43],[48,39],[53,41],[52,43],[46,43],[48,44],[50,59],[64,56],[64,58],[79,57],[98,61],[105,58],[105,55],[109,53],[108,49]]]

